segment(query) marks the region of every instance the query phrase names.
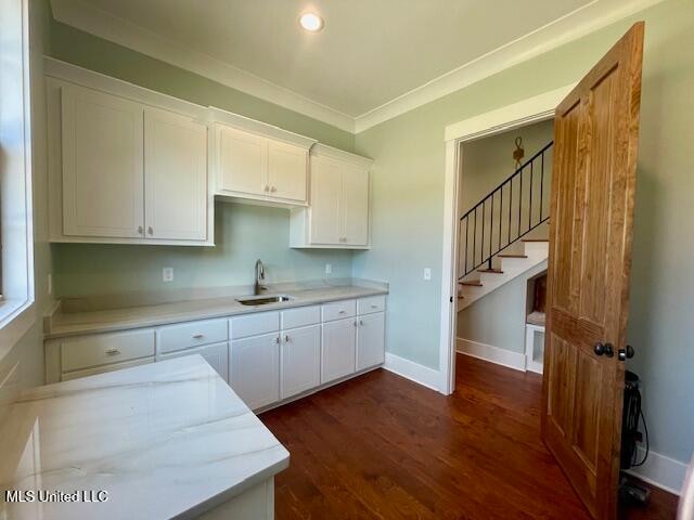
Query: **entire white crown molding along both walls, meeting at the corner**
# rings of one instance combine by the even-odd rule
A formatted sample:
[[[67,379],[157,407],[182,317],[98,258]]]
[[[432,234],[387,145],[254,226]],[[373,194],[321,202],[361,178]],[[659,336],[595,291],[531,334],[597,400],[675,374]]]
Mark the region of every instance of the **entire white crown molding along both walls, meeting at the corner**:
[[[143,29],[82,0],[50,0],[56,21],[350,133],[359,133],[581,38],[664,0],[593,0],[520,38],[352,117]]]

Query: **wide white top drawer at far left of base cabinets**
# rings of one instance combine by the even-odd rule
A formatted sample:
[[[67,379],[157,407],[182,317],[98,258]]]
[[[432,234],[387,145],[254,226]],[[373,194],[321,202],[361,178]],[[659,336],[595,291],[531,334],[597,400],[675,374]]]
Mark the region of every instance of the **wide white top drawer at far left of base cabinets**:
[[[85,336],[65,340],[61,344],[63,372],[151,355],[154,355],[153,329]]]

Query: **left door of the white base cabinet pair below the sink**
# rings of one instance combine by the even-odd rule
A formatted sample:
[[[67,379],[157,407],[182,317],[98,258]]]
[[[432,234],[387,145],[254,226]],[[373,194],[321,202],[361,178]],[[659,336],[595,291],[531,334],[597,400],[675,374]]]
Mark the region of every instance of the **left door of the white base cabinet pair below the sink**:
[[[280,400],[279,340],[266,334],[231,342],[229,385],[250,410]]]

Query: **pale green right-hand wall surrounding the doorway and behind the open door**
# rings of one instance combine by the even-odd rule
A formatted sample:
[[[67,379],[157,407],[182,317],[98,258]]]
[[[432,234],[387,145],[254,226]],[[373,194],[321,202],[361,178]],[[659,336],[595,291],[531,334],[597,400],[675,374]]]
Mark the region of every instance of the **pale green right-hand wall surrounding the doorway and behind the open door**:
[[[694,448],[694,2],[667,0],[357,135],[375,158],[373,248],[356,276],[390,282],[387,350],[439,367],[444,129],[582,77],[637,20],[646,21],[629,366],[644,380],[651,447]],[[433,268],[433,280],[422,270]]]

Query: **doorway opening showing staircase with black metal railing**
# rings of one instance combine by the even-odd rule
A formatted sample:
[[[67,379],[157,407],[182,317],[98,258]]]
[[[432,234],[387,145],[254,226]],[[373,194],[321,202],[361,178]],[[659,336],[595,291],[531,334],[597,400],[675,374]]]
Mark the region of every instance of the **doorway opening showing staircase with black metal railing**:
[[[542,373],[553,119],[459,143],[455,349]]]

